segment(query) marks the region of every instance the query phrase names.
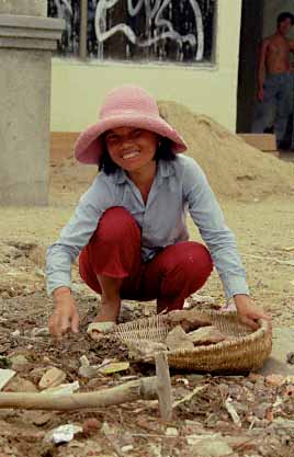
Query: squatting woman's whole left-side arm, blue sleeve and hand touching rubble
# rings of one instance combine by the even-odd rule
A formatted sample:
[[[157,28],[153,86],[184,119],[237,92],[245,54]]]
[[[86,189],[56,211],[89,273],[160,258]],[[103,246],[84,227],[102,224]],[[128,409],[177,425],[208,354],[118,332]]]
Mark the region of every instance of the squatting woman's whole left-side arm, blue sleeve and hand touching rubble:
[[[71,265],[97,229],[100,217],[112,206],[113,193],[97,180],[81,197],[76,212],[47,250],[47,292],[53,294],[55,312],[49,319],[53,336],[78,331],[79,315],[71,295]]]

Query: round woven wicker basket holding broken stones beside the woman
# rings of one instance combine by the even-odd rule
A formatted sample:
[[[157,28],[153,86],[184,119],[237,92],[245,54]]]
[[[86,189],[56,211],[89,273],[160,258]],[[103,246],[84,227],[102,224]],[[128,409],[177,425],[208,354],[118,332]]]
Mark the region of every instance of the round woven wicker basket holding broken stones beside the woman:
[[[240,323],[236,312],[205,311],[199,317],[210,318],[229,340],[195,346],[193,350],[166,351],[170,367],[205,373],[247,373],[261,368],[272,349],[272,332],[269,323],[252,331]],[[123,343],[143,346],[147,342],[163,342],[169,325],[166,316],[138,319],[115,328],[115,336]]]

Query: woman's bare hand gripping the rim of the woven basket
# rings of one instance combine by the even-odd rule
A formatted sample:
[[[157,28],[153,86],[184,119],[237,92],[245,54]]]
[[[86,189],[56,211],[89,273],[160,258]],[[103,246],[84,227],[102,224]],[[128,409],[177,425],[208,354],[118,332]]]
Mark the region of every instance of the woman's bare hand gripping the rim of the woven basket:
[[[251,329],[257,330],[259,328],[259,319],[267,319],[271,323],[271,316],[267,315],[262,309],[258,308],[248,295],[235,295],[234,301],[240,321],[250,325]]]

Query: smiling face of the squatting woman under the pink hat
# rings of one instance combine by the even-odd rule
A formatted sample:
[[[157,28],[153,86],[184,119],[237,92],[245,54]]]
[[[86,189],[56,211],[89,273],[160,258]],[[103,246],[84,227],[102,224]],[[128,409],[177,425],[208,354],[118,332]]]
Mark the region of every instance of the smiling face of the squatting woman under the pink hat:
[[[111,159],[125,171],[134,172],[155,168],[154,157],[158,136],[137,127],[116,127],[104,134]]]

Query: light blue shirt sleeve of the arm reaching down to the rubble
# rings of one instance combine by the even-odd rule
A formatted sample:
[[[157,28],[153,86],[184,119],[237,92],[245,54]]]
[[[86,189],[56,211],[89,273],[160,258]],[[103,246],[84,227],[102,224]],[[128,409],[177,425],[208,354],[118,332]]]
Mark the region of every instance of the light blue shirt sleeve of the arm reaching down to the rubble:
[[[95,179],[83,194],[59,238],[47,249],[47,293],[60,286],[71,288],[71,265],[97,229],[102,214],[114,203],[114,195],[103,180]]]

